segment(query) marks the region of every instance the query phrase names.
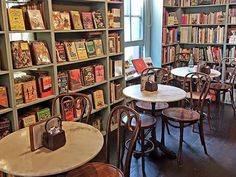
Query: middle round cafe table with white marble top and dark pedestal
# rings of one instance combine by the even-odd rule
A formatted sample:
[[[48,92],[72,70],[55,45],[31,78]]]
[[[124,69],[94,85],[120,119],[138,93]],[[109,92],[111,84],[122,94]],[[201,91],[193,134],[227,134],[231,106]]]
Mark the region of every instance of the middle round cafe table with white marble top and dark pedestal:
[[[186,97],[186,92],[183,89],[163,84],[158,84],[158,90],[154,92],[141,91],[140,84],[131,85],[123,89],[123,94],[134,100],[151,102],[153,116],[155,115],[156,102],[175,102],[183,100]],[[152,132],[152,135],[155,133]],[[154,141],[156,147],[159,147],[167,157],[176,158],[176,154],[158,140],[152,137],[152,141]]]

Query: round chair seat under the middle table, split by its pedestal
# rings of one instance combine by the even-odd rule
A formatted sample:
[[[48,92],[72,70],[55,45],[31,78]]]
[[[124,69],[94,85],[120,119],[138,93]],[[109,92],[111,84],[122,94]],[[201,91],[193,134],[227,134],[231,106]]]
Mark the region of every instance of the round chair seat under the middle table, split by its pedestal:
[[[135,103],[135,105],[139,108],[139,109],[143,109],[143,110],[148,110],[151,111],[152,110],[152,104],[150,102],[145,102],[145,101],[137,101]],[[169,107],[168,103],[156,103],[155,105],[155,110],[156,111],[161,111],[163,109],[166,109]]]

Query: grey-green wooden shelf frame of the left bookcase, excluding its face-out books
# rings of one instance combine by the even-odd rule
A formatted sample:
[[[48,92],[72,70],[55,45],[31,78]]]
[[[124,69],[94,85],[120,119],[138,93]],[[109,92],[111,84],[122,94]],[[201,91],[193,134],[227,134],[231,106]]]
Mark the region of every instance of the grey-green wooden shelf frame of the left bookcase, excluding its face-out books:
[[[102,117],[103,129],[105,128],[105,122],[108,117],[110,110],[117,104],[123,104],[124,98],[115,100],[111,102],[110,100],[110,84],[111,82],[119,83],[123,87],[125,86],[124,80],[124,22],[123,22],[123,11],[124,3],[122,1],[110,1],[110,0],[39,0],[33,2],[44,2],[44,13],[45,16],[45,30],[25,30],[25,31],[10,31],[8,24],[7,8],[9,4],[19,5],[24,4],[25,0],[19,1],[8,1],[1,0],[0,7],[0,48],[1,48],[1,60],[2,69],[0,70],[0,85],[7,87],[9,108],[0,110],[0,118],[6,117],[11,120],[13,131],[19,129],[19,114],[22,112],[27,112],[31,106],[48,104],[50,105],[52,99],[59,94],[58,90],[58,72],[65,71],[69,69],[81,68],[87,65],[103,64],[105,70],[105,80],[99,83],[95,83],[90,86],[83,86],[82,88],[75,90],[73,92],[81,93],[91,93],[94,90],[102,89],[104,92],[105,106],[98,110],[93,110],[92,114]],[[110,8],[120,9],[121,14],[121,25],[119,28],[110,28],[108,26],[108,10]],[[99,10],[102,13],[102,17],[105,23],[105,28],[102,29],[82,29],[82,30],[69,30],[69,31],[56,31],[53,27],[52,12],[53,11],[70,11],[77,10],[79,12],[83,11],[94,11]],[[78,60],[73,62],[57,63],[55,41],[63,40],[74,40],[80,37],[88,36],[91,33],[98,33],[103,42],[104,55],[99,57],[92,57],[87,60]],[[120,35],[121,49],[118,53],[109,53],[108,50],[108,36],[110,33],[117,33]],[[12,54],[10,42],[12,36],[18,34],[21,36],[20,39],[24,40],[44,40],[47,42],[49,53],[52,58],[52,63],[48,65],[32,66],[22,69],[13,69]],[[27,37],[25,37],[27,36]],[[30,36],[30,39],[28,38]],[[110,60],[122,60],[122,74],[117,77],[111,77],[109,75]],[[16,104],[15,94],[14,94],[14,74],[18,71],[28,72],[29,70],[40,70],[48,71],[52,77],[53,83],[53,95],[45,98],[38,98],[36,101],[30,103]],[[59,111],[59,103],[57,104],[57,110]]]

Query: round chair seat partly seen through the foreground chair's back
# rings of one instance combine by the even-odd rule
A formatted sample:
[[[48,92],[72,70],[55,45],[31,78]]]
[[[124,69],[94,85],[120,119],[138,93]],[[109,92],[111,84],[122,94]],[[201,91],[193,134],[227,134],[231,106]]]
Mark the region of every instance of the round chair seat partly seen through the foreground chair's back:
[[[147,114],[139,114],[139,116],[140,116],[140,119],[141,119],[141,128],[143,128],[143,129],[151,128],[151,127],[153,127],[153,126],[156,124],[156,122],[157,122],[156,118],[154,118],[154,117],[152,117],[152,116],[149,116],[149,115],[147,115]],[[126,116],[123,117],[123,118],[122,118],[122,121],[123,121],[124,123],[126,123],[126,122],[127,122],[127,117],[126,117]],[[131,126],[136,126],[135,119],[132,120]]]

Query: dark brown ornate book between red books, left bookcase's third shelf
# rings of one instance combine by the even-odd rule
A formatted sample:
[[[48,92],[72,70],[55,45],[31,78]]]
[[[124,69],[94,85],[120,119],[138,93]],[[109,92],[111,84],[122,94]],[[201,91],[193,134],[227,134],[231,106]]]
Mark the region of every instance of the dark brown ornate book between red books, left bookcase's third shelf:
[[[81,71],[82,71],[83,85],[89,86],[95,83],[93,66],[82,67]]]

